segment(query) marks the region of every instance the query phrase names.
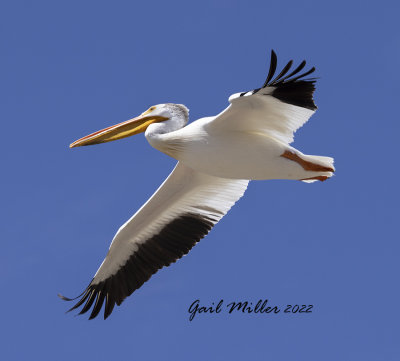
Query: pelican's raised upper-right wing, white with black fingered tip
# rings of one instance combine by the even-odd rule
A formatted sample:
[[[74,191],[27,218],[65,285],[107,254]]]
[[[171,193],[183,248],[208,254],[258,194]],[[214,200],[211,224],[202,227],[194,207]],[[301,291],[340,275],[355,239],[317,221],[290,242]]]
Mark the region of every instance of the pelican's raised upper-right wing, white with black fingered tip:
[[[317,109],[313,100],[315,78],[306,78],[315,71],[301,73],[306,61],[289,72],[290,60],[274,78],[277,57],[271,52],[267,79],[261,88],[236,93],[229,97],[231,103],[217,115],[209,127],[213,131],[264,132],[284,143],[293,142],[294,132]]]

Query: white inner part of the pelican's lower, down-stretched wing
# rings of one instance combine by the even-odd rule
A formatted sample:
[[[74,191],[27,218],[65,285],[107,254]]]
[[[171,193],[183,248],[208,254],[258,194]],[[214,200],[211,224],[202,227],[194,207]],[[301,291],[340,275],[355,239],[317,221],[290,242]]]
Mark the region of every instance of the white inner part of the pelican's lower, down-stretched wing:
[[[153,196],[118,230],[94,279],[101,282],[117,272],[140,244],[182,215],[199,217],[211,228],[244,194],[248,183],[199,173],[178,163]]]

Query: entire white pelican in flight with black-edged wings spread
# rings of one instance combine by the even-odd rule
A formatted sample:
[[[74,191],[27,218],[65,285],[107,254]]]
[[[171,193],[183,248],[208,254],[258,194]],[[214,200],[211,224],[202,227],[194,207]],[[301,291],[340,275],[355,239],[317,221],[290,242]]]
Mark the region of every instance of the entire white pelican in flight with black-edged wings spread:
[[[274,78],[277,58],[264,85],[229,98],[214,117],[186,125],[188,109],[159,104],[140,116],[83,137],[80,147],[145,132],[154,148],[178,160],[153,196],[116,233],[106,258],[80,300],[70,310],[93,305],[89,319],[105,301],[104,318],[158,269],[187,254],[245,192],[249,180],[324,181],[334,172],[333,158],[305,155],[289,144],[314,113],[315,78],[288,74],[290,61]],[[60,296],[65,300],[71,300]]]

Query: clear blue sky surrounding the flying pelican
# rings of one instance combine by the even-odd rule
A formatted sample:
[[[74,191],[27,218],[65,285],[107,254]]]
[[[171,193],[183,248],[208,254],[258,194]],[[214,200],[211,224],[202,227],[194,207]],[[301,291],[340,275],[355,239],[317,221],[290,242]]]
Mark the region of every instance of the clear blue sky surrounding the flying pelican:
[[[2,360],[399,360],[399,6],[380,1],[3,1]],[[144,136],[69,149],[164,102],[192,120],[306,59],[319,107],[294,145],[335,157],[318,184],[251,182],[188,256],[88,321],[119,226],[175,161]],[[197,315],[200,299],[311,314]]]

